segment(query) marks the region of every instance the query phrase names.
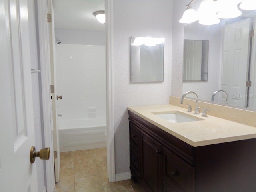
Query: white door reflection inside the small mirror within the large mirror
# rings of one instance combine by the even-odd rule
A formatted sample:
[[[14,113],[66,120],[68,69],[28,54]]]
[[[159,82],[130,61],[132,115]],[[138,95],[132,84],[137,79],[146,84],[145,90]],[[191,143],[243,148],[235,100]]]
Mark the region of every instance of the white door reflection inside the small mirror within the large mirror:
[[[186,40],[184,45],[183,80],[201,80],[202,41]]]

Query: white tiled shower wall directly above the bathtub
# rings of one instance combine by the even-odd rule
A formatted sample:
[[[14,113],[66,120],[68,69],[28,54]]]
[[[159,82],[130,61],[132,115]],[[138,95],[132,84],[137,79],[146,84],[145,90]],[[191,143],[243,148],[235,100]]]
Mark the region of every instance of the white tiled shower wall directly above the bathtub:
[[[105,46],[61,43],[55,48],[56,87],[63,96],[59,121],[106,117]]]

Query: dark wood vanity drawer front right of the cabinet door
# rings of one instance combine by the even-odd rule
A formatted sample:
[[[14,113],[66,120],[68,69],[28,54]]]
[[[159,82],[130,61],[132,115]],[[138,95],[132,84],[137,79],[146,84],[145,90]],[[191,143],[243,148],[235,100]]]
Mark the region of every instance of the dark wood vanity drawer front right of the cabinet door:
[[[195,171],[184,160],[163,146],[163,179],[180,192],[195,191]]]

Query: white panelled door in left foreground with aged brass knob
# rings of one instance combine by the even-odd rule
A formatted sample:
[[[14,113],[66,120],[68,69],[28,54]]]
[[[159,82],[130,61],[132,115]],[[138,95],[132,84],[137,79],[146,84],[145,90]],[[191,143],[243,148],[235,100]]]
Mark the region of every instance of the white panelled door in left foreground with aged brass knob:
[[[38,192],[27,0],[0,0],[0,191]]]

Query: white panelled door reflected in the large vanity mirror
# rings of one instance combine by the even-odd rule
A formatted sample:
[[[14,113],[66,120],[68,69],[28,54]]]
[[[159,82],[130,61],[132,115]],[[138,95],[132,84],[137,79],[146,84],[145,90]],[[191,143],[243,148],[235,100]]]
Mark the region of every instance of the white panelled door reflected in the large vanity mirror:
[[[250,19],[225,26],[222,89],[228,104],[246,106]]]

